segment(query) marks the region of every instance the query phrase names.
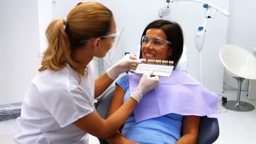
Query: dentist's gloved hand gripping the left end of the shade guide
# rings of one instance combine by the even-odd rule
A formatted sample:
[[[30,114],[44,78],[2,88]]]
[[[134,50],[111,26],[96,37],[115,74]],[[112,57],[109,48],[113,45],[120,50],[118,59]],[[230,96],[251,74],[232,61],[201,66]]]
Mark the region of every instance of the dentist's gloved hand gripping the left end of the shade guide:
[[[140,59],[131,54],[127,54],[112,67],[108,68],[106,73],[112,80],[115,80],[121,73],[129,71],[130,69],[136,69],[139,63],[141,63]]]

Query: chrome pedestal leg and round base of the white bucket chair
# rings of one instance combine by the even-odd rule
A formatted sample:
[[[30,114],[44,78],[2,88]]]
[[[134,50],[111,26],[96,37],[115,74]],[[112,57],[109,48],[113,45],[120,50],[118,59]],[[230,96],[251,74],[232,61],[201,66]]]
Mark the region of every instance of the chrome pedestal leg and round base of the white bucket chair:
[[[252,104],[246,103],[245,101],[240,101],[240,95],[241,95],[241,86],[243,79],[242,77],[234,77],[238,82],[238,89],[237,89],[237,100],[228,100],[226,102],[222,103],[222,106],[224,106],[228,110],[232,111],[252,111],[254,110],[254,106]]]

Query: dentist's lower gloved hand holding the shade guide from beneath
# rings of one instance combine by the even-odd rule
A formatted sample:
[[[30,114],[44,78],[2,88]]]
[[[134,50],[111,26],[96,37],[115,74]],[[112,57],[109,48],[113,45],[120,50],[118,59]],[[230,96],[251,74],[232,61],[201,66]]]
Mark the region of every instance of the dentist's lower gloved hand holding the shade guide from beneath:
[[[149,73],[144,74],[139,81],[138,87],[131,94],[131,97],[138,103],[141,101],[144,94],[159,85],[159,76],[152,76],[153,72],[153,70],[150,70]]]

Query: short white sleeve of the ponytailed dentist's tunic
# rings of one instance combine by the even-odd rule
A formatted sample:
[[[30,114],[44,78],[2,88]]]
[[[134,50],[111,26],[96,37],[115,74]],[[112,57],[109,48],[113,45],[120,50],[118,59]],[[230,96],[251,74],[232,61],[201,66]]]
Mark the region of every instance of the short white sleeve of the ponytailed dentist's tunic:
[[[66,127],[95,110],[90,89],[70,86],[66,80],[57,81],[54,82],[56,85],[52,83],[46,87],[40,98],[60,127]]]

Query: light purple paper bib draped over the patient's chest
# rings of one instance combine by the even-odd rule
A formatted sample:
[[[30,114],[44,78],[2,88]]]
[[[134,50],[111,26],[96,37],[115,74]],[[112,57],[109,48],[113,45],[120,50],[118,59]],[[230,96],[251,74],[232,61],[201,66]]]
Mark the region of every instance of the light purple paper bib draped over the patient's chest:
[[[130,94],[138,86],[141,74],[129,73]],[[218,96],[183,71],[160,77],[159,86],[146,93],[134,109],[136,122],[177,113],[217,118]]]

